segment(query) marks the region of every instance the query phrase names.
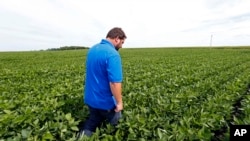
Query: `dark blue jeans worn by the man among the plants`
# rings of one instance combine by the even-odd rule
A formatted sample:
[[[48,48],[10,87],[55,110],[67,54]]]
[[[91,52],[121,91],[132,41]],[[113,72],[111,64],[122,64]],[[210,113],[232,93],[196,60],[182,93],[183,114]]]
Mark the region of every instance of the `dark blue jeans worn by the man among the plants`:
[[[115,108],[111,110],[101,110],[89,107],[89,118],[85,121],[83,126],[84,134],[91,136],[102,122],[107,120],[111,125],[116,126],[118,120],[121,118],[121,112],[115,112]]]

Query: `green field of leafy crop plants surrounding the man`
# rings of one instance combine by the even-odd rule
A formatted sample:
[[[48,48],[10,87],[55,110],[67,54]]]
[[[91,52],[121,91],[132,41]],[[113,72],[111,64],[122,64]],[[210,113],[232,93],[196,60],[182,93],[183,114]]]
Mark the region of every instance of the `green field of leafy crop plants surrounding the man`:
[[[0,53],[0,140],[75,140],[87,50]],[[120,124],[86,140],[229,140],[250,124],[250,48],[121,49]]]

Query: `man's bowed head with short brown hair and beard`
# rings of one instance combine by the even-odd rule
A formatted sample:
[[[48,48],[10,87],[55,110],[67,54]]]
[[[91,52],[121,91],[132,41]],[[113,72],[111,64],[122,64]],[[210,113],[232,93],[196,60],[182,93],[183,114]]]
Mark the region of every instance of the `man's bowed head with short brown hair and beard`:
[[[106,36],[106,39],[115,46],[116,50],[122,48],[122,44],[126,38],[127,36],[125,35],[124,31],[119,27],[112,28]]]

